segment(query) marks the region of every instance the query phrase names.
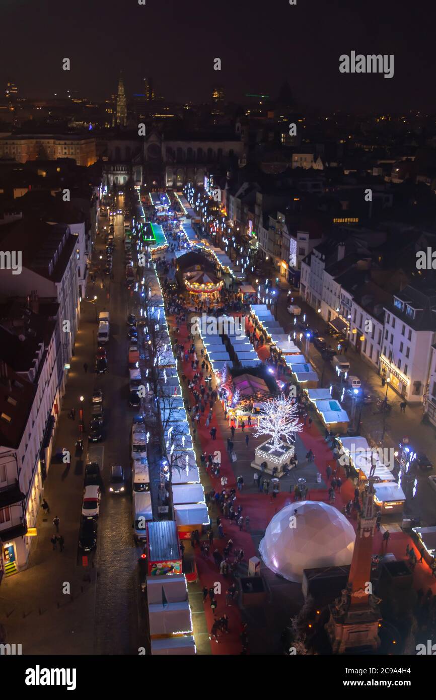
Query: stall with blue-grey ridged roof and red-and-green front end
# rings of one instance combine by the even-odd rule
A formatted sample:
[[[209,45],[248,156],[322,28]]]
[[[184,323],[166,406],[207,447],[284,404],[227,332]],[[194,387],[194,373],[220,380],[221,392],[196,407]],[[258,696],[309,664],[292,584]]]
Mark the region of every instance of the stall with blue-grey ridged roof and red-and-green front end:
[[[165,576],[182,573],[182,557],[178,546],[175,520],[159,520],[146,523],[147,573],[149,576]]]

